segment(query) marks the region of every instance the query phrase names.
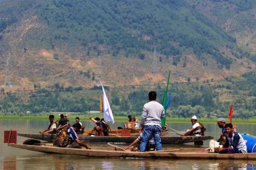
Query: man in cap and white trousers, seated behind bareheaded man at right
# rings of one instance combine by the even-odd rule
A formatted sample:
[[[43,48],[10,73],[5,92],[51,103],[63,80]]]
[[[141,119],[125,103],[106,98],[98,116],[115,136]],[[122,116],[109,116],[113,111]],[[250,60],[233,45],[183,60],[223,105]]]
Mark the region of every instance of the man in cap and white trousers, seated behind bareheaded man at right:
[[[221,128],[222,132],[220,133],[220,138],[216,140],[210,140],[210,152],[218,152],[218,148],[222,147],[226,143],[226,120],[224,118],[218,118],[217,124]]]

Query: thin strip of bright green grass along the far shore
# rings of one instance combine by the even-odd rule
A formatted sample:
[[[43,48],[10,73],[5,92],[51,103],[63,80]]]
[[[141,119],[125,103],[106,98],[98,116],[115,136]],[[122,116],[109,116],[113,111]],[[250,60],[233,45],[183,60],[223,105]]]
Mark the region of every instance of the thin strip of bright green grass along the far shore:
[[[102,114],[90,114],[90,115],[70,115],[68,116],[69,120],[75,120],[75,117],[79,117],[81,121],[90,121],[89,117],[92,116],[93,118],[99,117],[102,118]],[[48,115],[39,116],[39,115],[32,115],[32,116],[0,116],[0,120],[48,120]],[[58,120],[60,117],[59,115],[55,115],[55,120]],[[137,118],[140,120],[139,116]],[[126,122],[128,118],[126,116],[115,116],[115,122]],[[199,118],[199,122],[201,123],[216,123],[217,118]],[[228,122],[228,118],[226,118]],[[166,118],[166,122],[182,122],[182,123],[190,123],[190,118]],[[235,124],[256,124],[256,118],[249,118],[248,120],[243,120],[242,118],[233,118],[232,122]]]

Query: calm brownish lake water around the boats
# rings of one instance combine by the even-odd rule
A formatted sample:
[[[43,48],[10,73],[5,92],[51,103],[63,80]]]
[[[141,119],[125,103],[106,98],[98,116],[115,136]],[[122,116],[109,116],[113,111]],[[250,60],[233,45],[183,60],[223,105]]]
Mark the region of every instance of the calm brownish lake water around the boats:
[[[74,121],[70,122],[71,124]],[[93,122],[83,122],[86,129],[91,129]],[[17,130],[20,133],[38,133],[48,126],[48,121],[42,120],[0,120],[0,140],[3,142],[4,130]],[[117,122],[117,126],[123,126],[124,122]],[[217,124],[204,124],[205,135],[218,138],[220,128]],[[169,126],[175,130],[185,132],[191,127],[191,123],[172,123]],[[236,124],[238,132],[247,132],[255,135],[256,125]],[[113,126],[111,127],[113,128]],[[170,136],[176,136],[170,131]],[[18,143],[27,138],[18,136]],[[203,146],[207,147],[209,141]],[[168,144],[168,147],[173,145]],[[177,145],[176,145],[177,146]],[[181,144],[180,147],[193,146],[193,144]],[[53,155],[26,151],[13,148],[7,144],[0,147],[0,169],[256,169],[255,161],[229,161],[229,160],[174,160],[174,159],[98,159],[87,157],[72,157],[70,155]]]

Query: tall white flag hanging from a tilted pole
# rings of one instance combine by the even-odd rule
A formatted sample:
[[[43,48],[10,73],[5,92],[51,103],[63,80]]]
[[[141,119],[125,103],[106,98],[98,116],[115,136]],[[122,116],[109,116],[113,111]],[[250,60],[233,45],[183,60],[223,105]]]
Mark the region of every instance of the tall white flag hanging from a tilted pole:
[[[110,108],[110,105],[108,103],[108,98],[106,97],[106,93],[104,90],[104,87],[100,81],[100,84],[102,86],[102,91],[103,91],[103,110],[104,110],[104,121],[112,122],[113,124],[115,123],[112,110]]]

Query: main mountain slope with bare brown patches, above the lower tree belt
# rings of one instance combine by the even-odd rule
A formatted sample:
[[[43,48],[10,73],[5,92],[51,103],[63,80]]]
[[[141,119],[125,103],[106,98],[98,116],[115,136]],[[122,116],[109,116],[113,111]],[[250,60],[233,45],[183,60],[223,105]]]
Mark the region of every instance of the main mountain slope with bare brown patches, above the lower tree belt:
[[[185,0],[2,1],[0,18],[0,82],[9,57],[16,88],[158,83],[168,70],[172,81],[203,81],[255,69],[236,38]]]

